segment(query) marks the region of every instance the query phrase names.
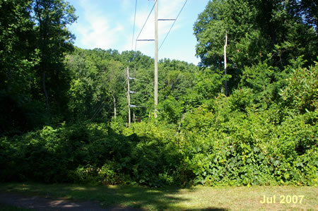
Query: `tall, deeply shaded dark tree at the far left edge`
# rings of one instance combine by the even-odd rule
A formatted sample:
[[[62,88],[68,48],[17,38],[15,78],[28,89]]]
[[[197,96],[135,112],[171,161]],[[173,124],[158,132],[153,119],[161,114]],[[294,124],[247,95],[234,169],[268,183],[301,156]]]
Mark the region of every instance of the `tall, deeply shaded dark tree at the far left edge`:
[[[38,88],[33,67],[38,59],[31,2],[0,1],[0,133],[14,135],[32,128]]]

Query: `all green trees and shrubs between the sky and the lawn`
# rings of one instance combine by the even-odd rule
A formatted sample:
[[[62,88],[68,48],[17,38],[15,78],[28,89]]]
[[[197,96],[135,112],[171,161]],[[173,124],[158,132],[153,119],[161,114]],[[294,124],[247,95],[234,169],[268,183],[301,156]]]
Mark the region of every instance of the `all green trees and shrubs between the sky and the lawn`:
[[[317,186],[317,8],[209,1],[154,118],[153,58],[73,46],[64,0],[0,1],[0,181]]]

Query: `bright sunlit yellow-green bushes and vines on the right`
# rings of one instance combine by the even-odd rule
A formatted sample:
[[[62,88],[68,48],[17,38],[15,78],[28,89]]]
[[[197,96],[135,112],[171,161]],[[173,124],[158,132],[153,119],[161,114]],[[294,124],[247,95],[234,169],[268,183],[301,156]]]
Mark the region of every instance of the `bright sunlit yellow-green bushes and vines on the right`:
[[[261,87],[243,73],[247,88],[186,115],[180,135],[194,184],[317,185],[318,68],[294,66]]]

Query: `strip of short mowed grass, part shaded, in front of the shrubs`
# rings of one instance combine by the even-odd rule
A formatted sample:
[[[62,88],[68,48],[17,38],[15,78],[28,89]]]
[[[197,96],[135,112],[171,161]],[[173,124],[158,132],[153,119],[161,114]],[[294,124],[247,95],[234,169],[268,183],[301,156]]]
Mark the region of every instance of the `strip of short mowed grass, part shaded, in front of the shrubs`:
[[[318,188],[306,186],[147,188],[0,183],[0,191],[90,200],[102,207],[121,205],[144,210],[318,210]],[[264,196],[266,201],[262,203]]]

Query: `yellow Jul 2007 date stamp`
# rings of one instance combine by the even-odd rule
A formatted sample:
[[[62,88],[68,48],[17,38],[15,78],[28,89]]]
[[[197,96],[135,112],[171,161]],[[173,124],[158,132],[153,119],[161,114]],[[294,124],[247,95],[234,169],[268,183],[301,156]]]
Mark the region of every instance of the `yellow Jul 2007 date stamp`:
[[[302,204],[304,195],[264,195],[263,198],[259,201],[261,204]]]

